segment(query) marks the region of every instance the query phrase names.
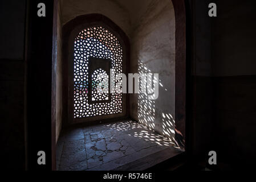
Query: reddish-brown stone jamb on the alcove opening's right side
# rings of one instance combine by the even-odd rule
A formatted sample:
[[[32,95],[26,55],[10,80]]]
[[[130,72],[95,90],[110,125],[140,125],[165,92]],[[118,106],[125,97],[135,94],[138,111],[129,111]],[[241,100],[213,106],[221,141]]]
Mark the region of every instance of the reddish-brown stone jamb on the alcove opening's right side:
[[[186,63],[186,3],[172,0],[175,13],[175,140],[178,146],[185,150],[186,138],[186,77],[188,63]]]

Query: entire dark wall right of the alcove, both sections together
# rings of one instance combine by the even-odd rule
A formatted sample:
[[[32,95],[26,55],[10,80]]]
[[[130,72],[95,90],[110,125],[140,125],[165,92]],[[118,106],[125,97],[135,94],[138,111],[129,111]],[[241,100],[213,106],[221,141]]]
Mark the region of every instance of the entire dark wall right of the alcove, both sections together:
[[[217,5],[217,17],[207,16],[210,2]],[[189,145],[201,159],[216,150],[219,167],[224,163],[245,168],[255,161],[255,6],[250,0],[190,1],[193,117]]]

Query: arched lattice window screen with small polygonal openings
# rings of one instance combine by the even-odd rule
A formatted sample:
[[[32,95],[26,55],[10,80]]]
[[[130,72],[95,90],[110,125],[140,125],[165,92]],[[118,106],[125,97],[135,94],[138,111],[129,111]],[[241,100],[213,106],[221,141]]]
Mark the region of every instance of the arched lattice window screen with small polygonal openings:
[[[111,98],[108,98],[107,94],[89,93],[90,83],[93,84],[92,90],[95,91],[97,74],[105,74],[101,69],[89,72],[91,57],[111,60],[111,69],[115,69],[115,75],[123,71],[123,49],[116,36],[102,26],[82,30],[76,36],[74,44],[74,118],[122,113],[122,93],[112,93],[109,95]],[[94,81],[90,81],[90,77]],[[105,77],[107,78],[107,75]],[[92,94],[94,101],[100,102],[89,102],[89,94]],[[104,100],[110,102],[104,102]]]

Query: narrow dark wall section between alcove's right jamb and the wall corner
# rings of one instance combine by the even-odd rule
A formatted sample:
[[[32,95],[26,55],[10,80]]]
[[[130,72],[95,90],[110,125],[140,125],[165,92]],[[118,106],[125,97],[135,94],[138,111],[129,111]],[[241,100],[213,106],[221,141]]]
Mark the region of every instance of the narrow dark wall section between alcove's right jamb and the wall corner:
[[[212,18],[207,14],[209,3],[209,0],[190,1],[190,7],[193,7],[189,16],[192,31],[188,34],[192,35],[193,56],[187,61],[192,61],[193,87],[190,92],[193,104],[189,110],[192,110],[193,117],[188,125],[192,134],[188,137],[188,143],[196,156],[206,155],[213,146]]]

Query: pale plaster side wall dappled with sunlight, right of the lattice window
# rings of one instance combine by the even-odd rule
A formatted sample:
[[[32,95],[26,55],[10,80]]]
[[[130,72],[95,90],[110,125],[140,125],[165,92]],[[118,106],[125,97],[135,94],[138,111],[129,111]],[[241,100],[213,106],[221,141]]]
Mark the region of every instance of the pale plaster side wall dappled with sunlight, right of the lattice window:
[[[152,1],[131,39],[131,73],[159,73],[159,97],[130,95],[130,115],[170,138],[175,119],[175,17],[171,1]]]

